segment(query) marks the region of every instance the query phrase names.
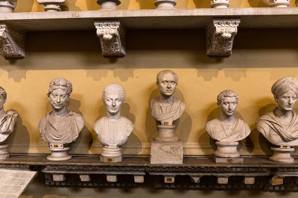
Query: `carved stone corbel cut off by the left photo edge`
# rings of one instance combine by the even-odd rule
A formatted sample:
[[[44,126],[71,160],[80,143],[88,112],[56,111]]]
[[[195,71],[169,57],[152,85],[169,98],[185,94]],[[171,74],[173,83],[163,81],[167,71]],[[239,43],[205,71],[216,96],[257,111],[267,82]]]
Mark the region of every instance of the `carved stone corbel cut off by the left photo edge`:
[[[0,24],[0,54],[4,58],[25,57],[25,34]]]

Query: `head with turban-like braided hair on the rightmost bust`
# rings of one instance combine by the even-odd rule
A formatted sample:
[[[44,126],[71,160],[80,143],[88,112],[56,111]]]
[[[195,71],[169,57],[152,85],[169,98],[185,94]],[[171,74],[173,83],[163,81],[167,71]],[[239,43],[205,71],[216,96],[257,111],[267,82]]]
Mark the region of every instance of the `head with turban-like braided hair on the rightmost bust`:
[[[271,92],[282,112],[291,111],[298,96],[298,81],[295,78],[282,78],[276,81]]]

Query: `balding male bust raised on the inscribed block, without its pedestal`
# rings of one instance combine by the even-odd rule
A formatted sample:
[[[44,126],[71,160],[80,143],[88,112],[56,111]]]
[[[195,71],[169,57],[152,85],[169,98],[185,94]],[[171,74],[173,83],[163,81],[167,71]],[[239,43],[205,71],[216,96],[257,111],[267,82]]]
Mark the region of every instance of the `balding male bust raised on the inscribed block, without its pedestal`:
[[[151,115],[161,125],[172,125],[179,119],[186,108],[186,102],[173,97],[176,85],[178,84],[177,74],[171,70],[163,70],[157,74],[156,85],[160,96],[150,102]]]

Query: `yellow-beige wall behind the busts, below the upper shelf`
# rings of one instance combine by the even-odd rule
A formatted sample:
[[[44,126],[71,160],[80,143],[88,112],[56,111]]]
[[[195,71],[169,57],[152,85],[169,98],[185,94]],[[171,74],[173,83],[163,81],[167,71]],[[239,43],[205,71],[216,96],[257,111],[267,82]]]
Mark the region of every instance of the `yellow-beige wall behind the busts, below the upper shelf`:
[[[63,77],[74,87],[69,107],[86,120],[71,153],[100,154],[93,124],[106,113],[102,90],[119,83],[127,95],[121,112],[135,123],[123,150],[149,154],[157,134],[149,112],[149,100],[158,96],[156,74],[172,69],[179,77],[175,96],[187,102],[176,131],[185,154],[213,152],[205,124],[220,115],[217,95],[232,89],[240,97],[235,115],[252,129],[239,147],[241,154],[269,155],[270,145],[255,121],[275,106],[272,84],[282,77],[298,78],[297,29],[239,29],[230,57],[206,55],[204,30],[129,30],[123,58],[104,58],[95,31],[27,33],[26,43],[26,58],[0,58],[0,86],[8,93],[4,108],[20,114],[9,138],[13,153],[49,153],[37,126],[51,110],[46,96],[50,80]]]

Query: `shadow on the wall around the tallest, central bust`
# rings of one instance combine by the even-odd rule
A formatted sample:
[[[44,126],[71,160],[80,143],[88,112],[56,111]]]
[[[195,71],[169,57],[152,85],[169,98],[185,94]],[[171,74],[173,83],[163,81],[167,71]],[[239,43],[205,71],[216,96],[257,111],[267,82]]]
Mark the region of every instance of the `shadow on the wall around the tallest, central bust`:
[[[145,134],[148,142],[151,142],[153,138],[157,135],[157,124],[160,124],[151,116],[151,110],[150,110],[151,99],[154,99],[159,95],[160,95],[159,90],[155,89],[153,90],[153,92],[151,92],[148,100],[149,107],[146,112],[146,122],[145,122]],[[174,97],[182,101],[185,101],[182,92],[178,88],[176,88]],[[180,126],[178,126],[179,123],[180,123]],[[192,127],[192,120],[190,118],[190,115],[186,111],[184,111],[180,119],[173,122],[173,125],[176,126],[175,128],[176,135],[182,140],[183,143],[186,143],[189,138],[189,134]]]

